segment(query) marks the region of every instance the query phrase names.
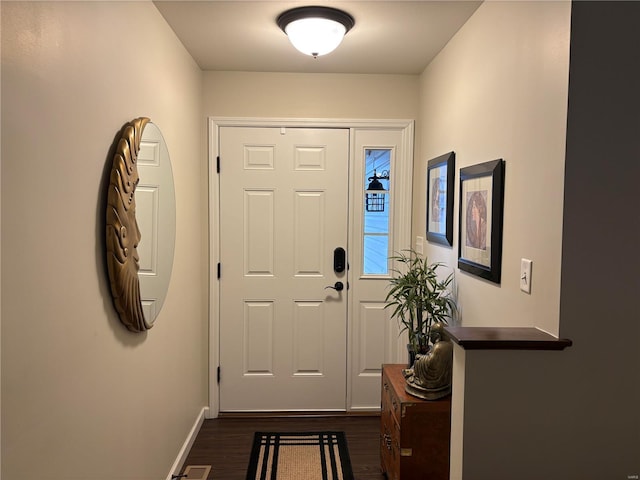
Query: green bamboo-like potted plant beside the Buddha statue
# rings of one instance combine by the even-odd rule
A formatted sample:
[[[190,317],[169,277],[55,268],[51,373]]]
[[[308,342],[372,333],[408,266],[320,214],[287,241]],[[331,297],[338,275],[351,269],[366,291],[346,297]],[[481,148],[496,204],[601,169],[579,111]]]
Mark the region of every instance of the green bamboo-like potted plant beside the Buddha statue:
[[[409,333],[409,366],[417,353],[429,351],[431,326],[434,323],[448,324],[456,311],[451,291],[453,273],[444,279],[438,278],[442,263],[429,263],[413,250],[403,250],[391,257],[401,264],[393,269],[394,277],[385,298],[385,308],[393,308],[392,318],[400,325],[400,333]]]

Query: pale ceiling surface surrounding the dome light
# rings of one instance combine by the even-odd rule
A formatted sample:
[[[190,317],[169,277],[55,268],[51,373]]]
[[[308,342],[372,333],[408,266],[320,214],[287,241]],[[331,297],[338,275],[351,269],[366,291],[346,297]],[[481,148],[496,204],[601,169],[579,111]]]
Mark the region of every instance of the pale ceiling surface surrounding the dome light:
[[[420,74],[480,1],[154,0],[202,70]],[[334,52],[293,48],[275,23],[285,10],[324,5],[356,21]]]

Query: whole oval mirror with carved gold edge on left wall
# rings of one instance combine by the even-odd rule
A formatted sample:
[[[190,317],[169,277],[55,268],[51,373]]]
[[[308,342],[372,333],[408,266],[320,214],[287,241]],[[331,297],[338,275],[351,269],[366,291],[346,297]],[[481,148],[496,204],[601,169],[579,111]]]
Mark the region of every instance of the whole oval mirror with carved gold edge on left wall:
[[[107,195],[107,267],[120,320],[151,328],[169,288],[175,249],[175,190],[167,145],[148,118],[127,124]]]

